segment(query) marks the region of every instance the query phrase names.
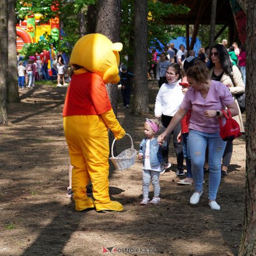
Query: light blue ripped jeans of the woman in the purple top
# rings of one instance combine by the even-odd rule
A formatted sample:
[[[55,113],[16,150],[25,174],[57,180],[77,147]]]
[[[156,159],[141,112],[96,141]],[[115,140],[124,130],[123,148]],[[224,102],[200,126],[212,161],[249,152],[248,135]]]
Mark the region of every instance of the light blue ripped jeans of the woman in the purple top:
[[[216,200],[221,180],[221,159],[226,147],[220,133],[203,133],[189,130],[189,148],[195,191],[203,191],[205,150],[209,147],[209,200]]]

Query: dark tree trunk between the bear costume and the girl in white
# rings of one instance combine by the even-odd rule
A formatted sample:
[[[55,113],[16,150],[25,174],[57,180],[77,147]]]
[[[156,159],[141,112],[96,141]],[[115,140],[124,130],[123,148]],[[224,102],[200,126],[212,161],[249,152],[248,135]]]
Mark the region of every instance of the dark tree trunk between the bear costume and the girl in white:
[[[134,2],[134,115],[148,113],[147,0]]]

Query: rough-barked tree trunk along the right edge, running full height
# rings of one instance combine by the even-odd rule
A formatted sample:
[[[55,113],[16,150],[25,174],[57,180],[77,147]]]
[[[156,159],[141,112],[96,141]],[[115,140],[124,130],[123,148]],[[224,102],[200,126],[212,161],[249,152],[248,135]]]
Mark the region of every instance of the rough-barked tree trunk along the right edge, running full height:
[[[246,185],[243,233],[238,255],[256,255],[256,1],[246,14]]]

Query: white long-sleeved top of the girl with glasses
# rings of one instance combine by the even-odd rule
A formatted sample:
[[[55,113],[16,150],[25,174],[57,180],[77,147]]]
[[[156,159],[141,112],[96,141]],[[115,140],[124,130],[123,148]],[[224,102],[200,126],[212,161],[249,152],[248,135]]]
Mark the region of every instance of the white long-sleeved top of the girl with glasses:
[[[173,117],[179,110],[184,94],[182,86],[179,85],[181,80],[169,84],[162,84],[155,101],[155,116],[160,117],[162,114]]]

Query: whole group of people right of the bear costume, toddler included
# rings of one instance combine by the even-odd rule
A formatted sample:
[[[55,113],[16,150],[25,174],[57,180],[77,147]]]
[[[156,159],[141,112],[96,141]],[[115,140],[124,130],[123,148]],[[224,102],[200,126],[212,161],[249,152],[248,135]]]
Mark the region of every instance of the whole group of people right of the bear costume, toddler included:
[[[159,92],[155,101],[155,119],[146,120],[140,144],[139,159],[143,160],[143,199],[141,205],[158,204],[160,201],[159,175],[170,170],[168,146],[174,143],[178,177],[185,175],[183,159],[187,167],[185,179],[178,184],[194,185],[195,191],[189,203],[199,203],[203,194],[205,173],[209,172],[209,207],[220,210],[217,191],[221,178],[228,175],[233,143],[220,137],[219,118],[225,123],[224,114],[230,111],[244,133],[241,110],[236,94],[245,92],[245,47],[233,43],[227,48],[222,44],[195,51],[179,50],[171,43],[155,61],[155,78]],[[155,58],[155,49],[152,56]],[[176,61],[175,61],[176,60]],[[153,68],[150,65],[149,72]],[[160,135],[157,136],[158,131]],[[158,141],[158,146],[155,143]],[[148,198],[152,179],[154,198]]]

